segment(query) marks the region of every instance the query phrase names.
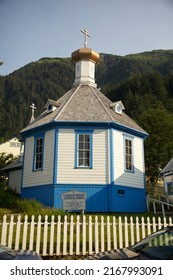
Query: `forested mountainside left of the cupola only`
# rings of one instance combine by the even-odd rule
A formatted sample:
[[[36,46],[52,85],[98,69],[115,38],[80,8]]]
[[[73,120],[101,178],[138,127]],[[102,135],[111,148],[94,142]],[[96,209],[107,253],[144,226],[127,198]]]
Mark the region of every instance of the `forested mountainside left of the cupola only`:
[[[73,76],[74,69],[70,59],[45,58],[6,77],[0,77],[0,95],[5,96],[0,137],[18,135],[30,121],[30,105],[35,103],[35,116],[38,116],[43,112],[48,98],[57,100],[70,89]],[[4,85],[4,90],[1,90],[1,84]]]

